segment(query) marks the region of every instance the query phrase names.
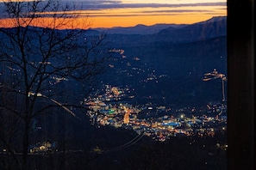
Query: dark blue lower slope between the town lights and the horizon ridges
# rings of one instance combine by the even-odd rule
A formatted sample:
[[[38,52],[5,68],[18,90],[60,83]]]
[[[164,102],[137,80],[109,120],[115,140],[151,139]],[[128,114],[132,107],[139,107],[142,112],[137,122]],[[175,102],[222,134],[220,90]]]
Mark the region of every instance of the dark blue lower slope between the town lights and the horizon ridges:
[[[142,102],[148,96],[159,103],[164,96],[166,104],[179,106],[222,100],[221,80],[203,82],[203,75],[214,69],[227,73],[226,46],[225,36],[180,44],[124,46],[126,58],[114,58],[105,82],[131,85]]]

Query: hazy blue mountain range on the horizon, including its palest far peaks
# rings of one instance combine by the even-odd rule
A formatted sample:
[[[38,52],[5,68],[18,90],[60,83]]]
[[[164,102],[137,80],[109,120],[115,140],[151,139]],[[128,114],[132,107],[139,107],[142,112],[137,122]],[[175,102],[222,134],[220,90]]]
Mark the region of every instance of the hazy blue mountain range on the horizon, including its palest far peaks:
[[[213,17],[190,25],[157,24],[153,26],[96,28],[89,34],[106,33],[114,46],[137,46],[159,43],[185,43],[227,35],[227,17]]]

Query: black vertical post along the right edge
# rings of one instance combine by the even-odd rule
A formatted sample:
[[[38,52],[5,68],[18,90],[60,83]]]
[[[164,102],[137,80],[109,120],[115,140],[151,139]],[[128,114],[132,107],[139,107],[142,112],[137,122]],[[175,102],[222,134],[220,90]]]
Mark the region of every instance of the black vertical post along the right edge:
[[[228,0],[228,169],[255,167],[253,0]]]

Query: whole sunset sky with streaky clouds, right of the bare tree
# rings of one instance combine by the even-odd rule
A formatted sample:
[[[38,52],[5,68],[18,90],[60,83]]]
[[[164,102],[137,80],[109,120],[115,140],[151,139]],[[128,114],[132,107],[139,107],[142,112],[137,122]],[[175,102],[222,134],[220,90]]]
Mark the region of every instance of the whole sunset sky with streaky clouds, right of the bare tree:
[[[0,9],[3,9],[0,1]],[[158,23],[191,24],[214,16],[227,15],[227,2],[223,0],[76,0],[76,9],[70,15],[78,15],[77,21],[89,19],[87,27],[133,27],[138,24]],[[10,27],[8,17],[0,15],[0,27]],[[44,22],[47,21],[46,18]],[[34,25],[40,26],[41,21]],[[70,27],[62,27],[70,28]],[[79,27],[83,28],[83,27]]]

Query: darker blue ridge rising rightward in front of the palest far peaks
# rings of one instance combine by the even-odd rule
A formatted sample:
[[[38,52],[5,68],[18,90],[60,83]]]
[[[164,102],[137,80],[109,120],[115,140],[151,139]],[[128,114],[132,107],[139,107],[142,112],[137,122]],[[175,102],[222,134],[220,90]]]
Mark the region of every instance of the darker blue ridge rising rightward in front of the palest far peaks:
[[[197,22],[191,25],[167,27],[159,31],[159,33],[153,34],[129,34],[133,33],[131,28],[123,28],[127,33],[122,34],[112,34],[111,29],[105,30],[105,32],[107,33],[109,41],[111,41],[112,45],[115,47],[148,46],[156,42],[184,43],[226,36],[226,24],[227,18],[222,16],[213,17],[208,21]],[[140,27],[136,27],[136,29],[139,28]],[[143,29],[141,29],[141,31],[143,31]]]

